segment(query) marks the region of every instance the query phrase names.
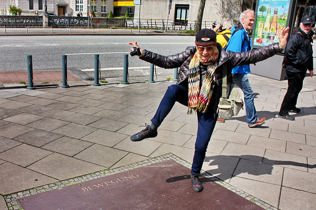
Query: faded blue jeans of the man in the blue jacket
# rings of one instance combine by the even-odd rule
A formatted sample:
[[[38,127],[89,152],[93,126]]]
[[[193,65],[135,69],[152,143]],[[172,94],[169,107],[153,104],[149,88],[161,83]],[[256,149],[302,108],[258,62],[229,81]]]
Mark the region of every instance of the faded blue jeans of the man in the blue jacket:
[[[248,125],[255,123],[258,120],[258,115],[253,100],[255,95],[250,87],[248,75],[235,74],[233,82],[243,91]]]

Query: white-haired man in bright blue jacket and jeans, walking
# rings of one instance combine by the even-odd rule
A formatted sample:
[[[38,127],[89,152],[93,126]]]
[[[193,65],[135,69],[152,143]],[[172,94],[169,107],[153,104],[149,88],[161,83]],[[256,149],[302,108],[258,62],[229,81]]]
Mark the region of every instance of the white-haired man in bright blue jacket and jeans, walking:
[[[232,36],[228,42],[226,51],[245,52],[251,50],[251,40],[248,31],[252,29],[254,24],[255,14],[252,9],[243,11],[239,16],[239,23],[232,29]],[[248,75],[250,72],[249,65],[240,65],[232,70],[233,82],[244,93],[244,103],[247,114],[247,124],[249,127],[261,125],[266,121],[266,118],[258,118],[255,104],[254,92],[250,87]]]

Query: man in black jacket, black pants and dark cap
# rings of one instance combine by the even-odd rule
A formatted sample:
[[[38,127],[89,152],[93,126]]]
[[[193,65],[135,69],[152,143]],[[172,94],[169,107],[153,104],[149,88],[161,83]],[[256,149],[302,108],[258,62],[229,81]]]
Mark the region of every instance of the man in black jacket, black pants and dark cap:
[[[313,77],[313,38],[312,19],[310,17],[302,18],[300,27],[288,41],[285,52],[286,75],[288,77],[288,88],[283,98],[279,118],[286,120],[295,120],[289,115],[289,112],[299,113],[301,109],[296,107],[297,97],[303,88],[303,80],[306,71],[309,70],[309,76]]]

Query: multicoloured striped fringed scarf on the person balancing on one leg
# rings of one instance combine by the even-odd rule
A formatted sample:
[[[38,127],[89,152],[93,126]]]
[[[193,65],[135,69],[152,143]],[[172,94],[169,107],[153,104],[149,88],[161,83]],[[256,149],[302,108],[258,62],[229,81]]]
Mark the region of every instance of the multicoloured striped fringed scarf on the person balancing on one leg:
[[[204,113],[207,111],[208,104],[211,100],[213,90],[211,87],[215,82],[214,72],[217,67],[218,49],[214,48],[213,54],[209,60],[202,60],[199,54],[193,56],[190,61],[190,70],[188,75],[189,81],[189,101],[188,115],[195,114],[197,111]],[[200,63],[207,65],[207,71],[200,86]]]

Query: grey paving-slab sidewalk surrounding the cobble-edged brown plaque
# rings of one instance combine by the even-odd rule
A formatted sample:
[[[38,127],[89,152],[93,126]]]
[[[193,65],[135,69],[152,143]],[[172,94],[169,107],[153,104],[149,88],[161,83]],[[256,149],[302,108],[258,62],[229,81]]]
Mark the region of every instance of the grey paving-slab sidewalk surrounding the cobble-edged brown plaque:
[[[130,135],[143,129],[139,126],[150,122],[167,87],[175,84],[146,79],[131,77],[130,85],[121,85],[122,78],[109,78],[101,86],[69,82],[70,88],[36,84],[35,90],[2,85],[0,209],[7,209],[3,196],[170,152],[191,163],[197,119],[178,103],[156,138],[130,141]],[[266,123],[249,128],[244,110],[217,123],[203,170],[272,207],[315,208],[315,78],[304,80],[297,104],[302,113],[294,121],[277,118],[287,81],[253,74],[249,80],[258,115]]]

